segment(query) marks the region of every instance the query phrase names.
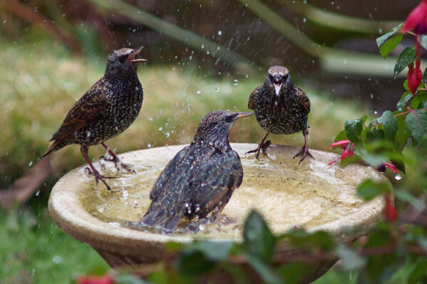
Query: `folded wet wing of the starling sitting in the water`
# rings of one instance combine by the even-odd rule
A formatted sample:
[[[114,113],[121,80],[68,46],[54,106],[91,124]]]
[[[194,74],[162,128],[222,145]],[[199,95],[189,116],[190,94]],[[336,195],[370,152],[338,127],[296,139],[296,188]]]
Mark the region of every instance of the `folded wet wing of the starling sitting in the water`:
[[[214,209],[223,209],[242,180],[243,168],[235,151],[216,151],[204,163],[200,163],[191,172],[188,191],[191,204],[199,208],[197,214],[206,217]]]

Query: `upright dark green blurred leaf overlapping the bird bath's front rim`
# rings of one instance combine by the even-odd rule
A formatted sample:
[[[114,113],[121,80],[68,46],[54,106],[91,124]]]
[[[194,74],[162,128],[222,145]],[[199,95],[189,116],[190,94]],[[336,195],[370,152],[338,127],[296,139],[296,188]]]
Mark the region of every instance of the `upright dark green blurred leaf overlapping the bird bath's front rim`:
[[[270,262],[275,246],[275,237],[271,234],[263,217],[252,210],[243,227],[243,246],[246,252],[265,263]]]

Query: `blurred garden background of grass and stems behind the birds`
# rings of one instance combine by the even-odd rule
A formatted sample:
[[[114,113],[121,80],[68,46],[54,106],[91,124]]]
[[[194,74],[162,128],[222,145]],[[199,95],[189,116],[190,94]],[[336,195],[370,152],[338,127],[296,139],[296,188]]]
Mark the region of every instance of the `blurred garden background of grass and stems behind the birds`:
[[[117,153],[189,143],[213,109],[247,110],[268,67],[285,65],[312,103],[310,148],[327,150],[346,119],[394,109],[404,77],[376,38],[418,0],[1,0],[0,283],[70,283],[105,271],[95,251],[48,215],[51,187],[84,164],[78,146],[39,160],[70,107],[102,77],[107,55],[143,46],[144,102],[134,124],[108,145]],[[258,143],[255,119],[231,141]],[[271,136],[302,146],[300,133]],[[104,154],[90,148],[90,157]],[[327,273],[318,283],[351,275]],[[354,278],[355,279],[355,278]],[[324,282],[322,282],[324,281]],[[353,280],[354,281],[354,280]]]

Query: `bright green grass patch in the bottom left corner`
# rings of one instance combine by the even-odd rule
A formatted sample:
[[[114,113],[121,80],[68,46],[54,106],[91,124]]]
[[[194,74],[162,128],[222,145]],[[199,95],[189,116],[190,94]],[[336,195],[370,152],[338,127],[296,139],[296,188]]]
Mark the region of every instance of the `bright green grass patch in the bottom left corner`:
[[[0,283],[70,283],[109,266],[88,244],[68,236],[46,207],[0,212]]]

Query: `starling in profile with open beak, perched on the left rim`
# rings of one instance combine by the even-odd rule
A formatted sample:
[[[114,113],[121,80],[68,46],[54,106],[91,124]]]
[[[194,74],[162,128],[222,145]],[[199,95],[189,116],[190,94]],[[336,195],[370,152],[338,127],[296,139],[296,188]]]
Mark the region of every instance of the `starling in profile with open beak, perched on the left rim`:
[[[101,144],[112,156],[116,168],[122,165],[117,155],[105,145],[105,141],[122,133],[137,118],[142,105],[142,86],[137,76],[137,59],[142,48],[122,48],[108,57],[104,77],[98,80],[68,111],[58,131],[50,141],[52,145],[41,158],[70,144],[79,144],[83,158],[88,162],[95,181],[101,180],[108,190],[105,177],[95,169],[88,157],[89,146]]]

